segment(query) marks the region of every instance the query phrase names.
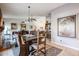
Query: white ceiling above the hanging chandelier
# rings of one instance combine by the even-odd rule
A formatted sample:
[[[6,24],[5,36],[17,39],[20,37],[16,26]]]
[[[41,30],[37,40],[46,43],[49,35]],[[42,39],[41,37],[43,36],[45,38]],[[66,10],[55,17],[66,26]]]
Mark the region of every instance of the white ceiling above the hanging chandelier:
[[[31,6],[32,16],[46,16],[53,9],[65,3],[0,3],[3,17],[26,17],[28,15],[28,5]]]

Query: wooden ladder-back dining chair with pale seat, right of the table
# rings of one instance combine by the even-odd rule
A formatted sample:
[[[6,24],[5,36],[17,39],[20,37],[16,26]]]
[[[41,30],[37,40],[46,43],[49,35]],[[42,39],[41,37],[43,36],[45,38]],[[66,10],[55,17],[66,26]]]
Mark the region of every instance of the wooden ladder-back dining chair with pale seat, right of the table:
[[[34,48],[31,55],[39,55],[39,53],[43,53],[46,56],[46,32],[45,31],[37,31],[37,43],[31,45]]]

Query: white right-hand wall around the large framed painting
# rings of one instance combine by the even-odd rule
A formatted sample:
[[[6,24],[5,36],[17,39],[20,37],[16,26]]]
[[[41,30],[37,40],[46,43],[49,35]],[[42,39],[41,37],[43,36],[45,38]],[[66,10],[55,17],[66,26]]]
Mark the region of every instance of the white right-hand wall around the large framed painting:
[[[79,4],[65,4],[56,8],[51,13],[51,38],[52,42],[79,50]],[[76,38],[57,36],[57,18],[76,14]]]

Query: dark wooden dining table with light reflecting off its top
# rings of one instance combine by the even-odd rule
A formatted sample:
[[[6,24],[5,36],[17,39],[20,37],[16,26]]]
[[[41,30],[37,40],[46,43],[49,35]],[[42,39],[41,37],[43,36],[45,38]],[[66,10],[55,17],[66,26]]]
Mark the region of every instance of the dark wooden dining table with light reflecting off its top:
[[[26,34],[26,35],[23,35],[23,36],[25,37],[26,56],[28,56],[30,54],[29,47],[33,43],[33,41],[37,39],[37,36],[32,35],[32,34]]]

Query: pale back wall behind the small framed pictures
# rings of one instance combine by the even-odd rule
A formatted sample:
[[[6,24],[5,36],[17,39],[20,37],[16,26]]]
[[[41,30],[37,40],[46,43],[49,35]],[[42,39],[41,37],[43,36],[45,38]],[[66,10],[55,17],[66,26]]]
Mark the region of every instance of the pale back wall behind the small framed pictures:
[[[10,30],[10,31],[20,31],[21,29],[21,22],[24,21],[26,18],[4,18],[4,22],[5,22],[5,30],[4,30],[4,33],[6,33],[6,30],[7,28]],[[30,29],[30,26],[29,25],[34,25],[34,26],[37,26],[38,27],[44,27],[44,23],[45,23],[45,16],[36,16],[35,17],[36,21],[33,22],[33,23],[26,23],[26,30],[34,30],[34,27],[33,29]],[[17,23],[17,26],[18,26],[18,29],[17,30],[11,30],[11,23]]]

